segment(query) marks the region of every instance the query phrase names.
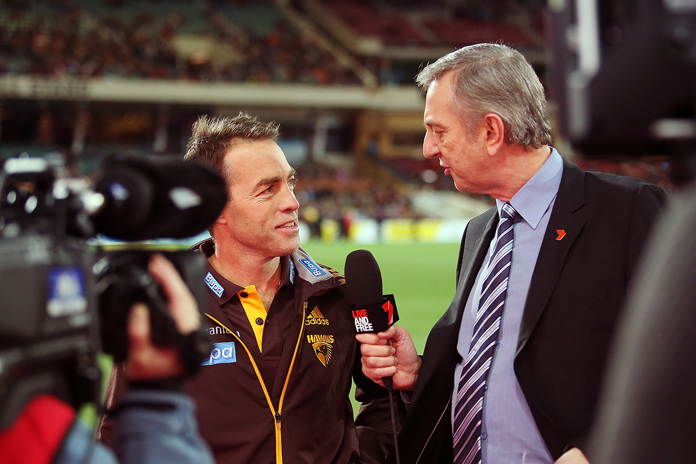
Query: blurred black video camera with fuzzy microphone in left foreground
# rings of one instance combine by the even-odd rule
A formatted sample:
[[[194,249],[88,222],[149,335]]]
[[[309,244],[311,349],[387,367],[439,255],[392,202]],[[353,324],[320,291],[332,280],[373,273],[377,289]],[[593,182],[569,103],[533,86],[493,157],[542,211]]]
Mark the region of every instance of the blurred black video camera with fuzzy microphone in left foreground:
[[[179,348],[187,372],[211,349],[204,332],[177,332],[148,274],[151,251],[104,252],[91,239],[196,235],[226,203],[224,180],[192,162],[123,156],[106,162],[93,190],[59,161],[10,158],[0,173],[0,430],[38,394],[98,403],[96,354],[125,359],[134,302],[150,308],[153,343]],[[165,256],[205,308],[205,258]]]

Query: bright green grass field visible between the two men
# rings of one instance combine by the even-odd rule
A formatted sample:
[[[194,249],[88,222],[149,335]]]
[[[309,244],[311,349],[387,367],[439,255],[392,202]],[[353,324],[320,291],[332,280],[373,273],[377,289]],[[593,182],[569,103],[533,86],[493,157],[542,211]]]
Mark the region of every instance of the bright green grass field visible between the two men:
[[[411,332],[416,350],[422,354],[430,329],[450,305],[454,295],[454,272],[459,244],[413,243],[404,245],[357,245],[351,242],[308,242],[302,245],[315,261],[343,272],[346,256],[355,249],[369,249],[379,263],[384,293],[393,293],[400,319],[397,325]],[[104,382],[110,359],[100,357]],[[105,385],[104,385],[105,386]],[[358,403],[353,402],[354,412]],[[86,407],[81,419],[95,424],[93,408]]]

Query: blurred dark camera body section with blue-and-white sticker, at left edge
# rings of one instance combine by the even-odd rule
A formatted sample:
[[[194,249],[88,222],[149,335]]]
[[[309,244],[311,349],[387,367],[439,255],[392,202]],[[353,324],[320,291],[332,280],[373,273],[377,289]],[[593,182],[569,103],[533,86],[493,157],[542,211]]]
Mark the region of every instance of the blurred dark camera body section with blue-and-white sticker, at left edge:
[[[0,240],[0,429],[41,393],[76,408],[98,398],[94,256],[75,238]]]

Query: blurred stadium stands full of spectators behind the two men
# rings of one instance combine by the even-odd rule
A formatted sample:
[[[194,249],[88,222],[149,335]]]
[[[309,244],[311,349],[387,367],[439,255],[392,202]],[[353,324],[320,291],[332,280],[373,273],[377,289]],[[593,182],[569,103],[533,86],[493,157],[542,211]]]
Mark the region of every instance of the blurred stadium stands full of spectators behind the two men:
[[[523,3],[530,8],[519,14]],[[420,154],[422,95],[413,76],[454,47],[487,41],[518,47],[543,70],[541,3],[484,0],[455,8],[444,0],[0,0],[0,157],[60,150],[74,171],[86,173],[111,153],[180,154],[199,114],[245,110],[269,120],[284,111],[292,116],[281,121],[283,130],[297,123],[290,129],[295,134],[284,135],[301,142],[298,159],[315,159],[299,166],[296,190],[301,214],[312,213],[304,219],[316,224],[315,236],[346,236],[351,224],[365,220],[367,229],[388,231],[384,236],[394,240],[442,237],[448,234],[432,224],[418,229],[409,222],[422,215],[414,192],[461,197],[437,160]],[[340,27],[322,22],[326,15]],[[365,46],[351,47],[351,41]],[[361,70],[374,74],[372,84]],[[110,86],[111,93],[93,98],[97,93],[83,82]],[[132,91],[140,100],[127,95],[131,88],[140,90]],[[148,100],[177,92],[191,100]],[[264,98],[249,97],[260,93]],[[287,95],[295,99],[283,100]],[[401,106],[388,107],[393,102]],[[125,127],[134,112],[144,115],[141,123],[117,137],[113,128]],[[322,141],[316,135],[322,117],[339,121],[340,137],[349,141],[335,150],[349,167],[319,164],[329,151],[315,146]],[[324,127],[325,144],[333,124]],[[375,172],[358,166],[361,157]],[[671,189],[663,161],[576,162]],[[324,221],[331,226],[322,232]]]

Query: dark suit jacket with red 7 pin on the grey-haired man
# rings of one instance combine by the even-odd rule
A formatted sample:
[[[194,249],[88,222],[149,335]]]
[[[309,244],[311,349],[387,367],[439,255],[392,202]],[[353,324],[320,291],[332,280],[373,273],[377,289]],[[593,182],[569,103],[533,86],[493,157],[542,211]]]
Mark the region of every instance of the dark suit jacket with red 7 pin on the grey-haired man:
[[[667,194],[643,180],[584,172],[564,160],[525,304],[514,369],[553,458],[582,449],[608,345],[644,242]],[[402,463],[451,463],[451,399],[462,311],[498,214],[471,219],[457,293],[429,334],[399,436]],[[560,239],[561,231],[565,235]],[[498,463],[492,463],[498,464]]]

